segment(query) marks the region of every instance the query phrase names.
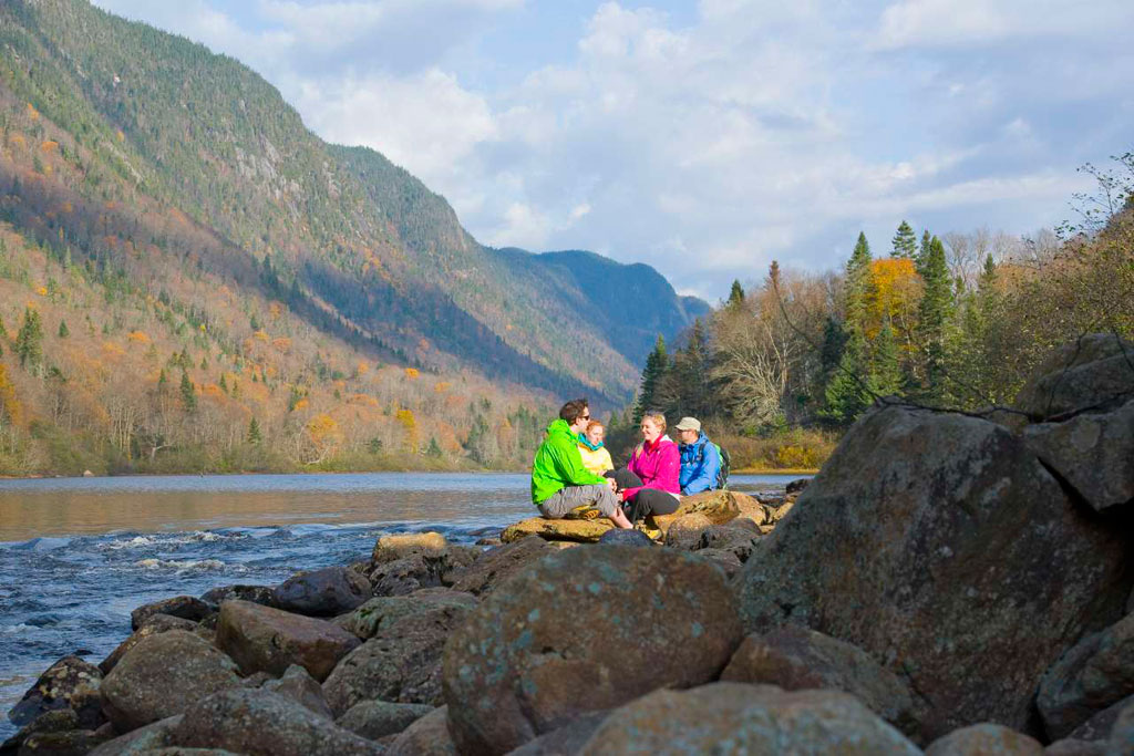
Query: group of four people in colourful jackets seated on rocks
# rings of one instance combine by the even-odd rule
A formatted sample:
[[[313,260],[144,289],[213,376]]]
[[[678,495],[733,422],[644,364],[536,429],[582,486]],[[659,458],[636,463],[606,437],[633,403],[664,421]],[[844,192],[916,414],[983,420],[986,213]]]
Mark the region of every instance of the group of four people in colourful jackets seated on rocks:
[[[720,456],[695,418],[683,417],[676,430],[680,445],[666,435],[665,415],[646,413],[642,443],[626,467],[615,469],[603,447],[606,428],[591,419],[586,399],[568,401],[535,452],[532,502],[551,519],[594,507],[620,528],[677,511],[682,495],[717,487]]]

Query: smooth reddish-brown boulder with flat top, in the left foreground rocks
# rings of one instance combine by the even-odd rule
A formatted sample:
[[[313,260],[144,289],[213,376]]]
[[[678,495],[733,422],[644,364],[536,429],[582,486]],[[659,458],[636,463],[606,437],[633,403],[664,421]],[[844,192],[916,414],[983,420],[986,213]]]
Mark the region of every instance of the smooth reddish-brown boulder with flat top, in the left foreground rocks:
[[[248,601],[226,601],[217,623],[217,646],[244,674],[282,674],[298,664],[322,682],[358,646],[358,638],[324,620]]]

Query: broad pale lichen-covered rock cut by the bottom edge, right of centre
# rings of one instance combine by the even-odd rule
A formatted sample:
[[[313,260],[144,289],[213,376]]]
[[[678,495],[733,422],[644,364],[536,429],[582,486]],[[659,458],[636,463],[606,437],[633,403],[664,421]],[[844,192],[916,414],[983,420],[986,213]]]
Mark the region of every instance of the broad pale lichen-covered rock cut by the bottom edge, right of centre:
[[[615,710],[578,753],[915,756],[921,750],[845,693],[714,682],[655,690]]]

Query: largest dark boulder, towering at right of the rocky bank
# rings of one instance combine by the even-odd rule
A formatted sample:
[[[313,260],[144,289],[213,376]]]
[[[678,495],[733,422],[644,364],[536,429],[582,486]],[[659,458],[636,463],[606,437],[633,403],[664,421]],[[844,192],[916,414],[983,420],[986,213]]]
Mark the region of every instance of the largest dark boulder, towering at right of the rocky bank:
[[[1002,426],[891,406],[850,428],[736,584],[750,631],[809,627],[898,672],[931,741],[1027,727],[1044,670],[1120,615],[1127,541]]]

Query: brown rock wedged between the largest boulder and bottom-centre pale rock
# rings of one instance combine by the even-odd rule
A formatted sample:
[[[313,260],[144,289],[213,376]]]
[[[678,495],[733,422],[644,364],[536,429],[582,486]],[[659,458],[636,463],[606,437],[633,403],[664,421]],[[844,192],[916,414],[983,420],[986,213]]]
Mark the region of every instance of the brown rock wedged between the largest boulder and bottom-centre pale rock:
[[[785,690],[843,690],[898,729],[912,725],[913,699],[896,674],[861,648],[806,628],[788,626],[747,636],[720,679]]]

